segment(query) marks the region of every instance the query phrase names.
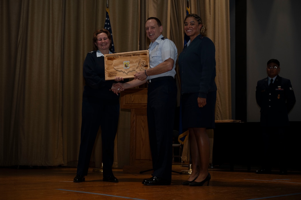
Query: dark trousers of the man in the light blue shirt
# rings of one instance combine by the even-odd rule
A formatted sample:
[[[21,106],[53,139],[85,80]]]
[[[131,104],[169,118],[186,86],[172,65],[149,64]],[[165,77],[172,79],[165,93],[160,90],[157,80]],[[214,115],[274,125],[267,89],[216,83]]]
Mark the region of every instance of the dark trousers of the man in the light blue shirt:
[[[147,91],[147,122],[153,176],[171,181],[172,137],[177,87],[171,76],[151,79]]]

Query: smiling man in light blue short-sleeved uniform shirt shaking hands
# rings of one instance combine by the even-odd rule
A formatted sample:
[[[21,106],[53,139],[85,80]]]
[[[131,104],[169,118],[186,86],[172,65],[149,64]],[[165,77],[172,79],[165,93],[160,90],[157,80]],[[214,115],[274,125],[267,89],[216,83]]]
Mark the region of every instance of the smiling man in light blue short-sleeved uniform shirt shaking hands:
[[[153,176],[144,179],[144,185],[170,185],[172,173],[172,133],[176,108],[177,86],[175,83],[175,63],[178,51],[175,44],[163,37],[163,26],[156,17],[145,23],[149,46],[150,69],[138,72],[134,80],[117,83],[121,89],[133,88],[145,83],[147,90],[147,122]],[[116,77],[116,81],[123,78]],[[118,93],[119,90],[113,90]]]

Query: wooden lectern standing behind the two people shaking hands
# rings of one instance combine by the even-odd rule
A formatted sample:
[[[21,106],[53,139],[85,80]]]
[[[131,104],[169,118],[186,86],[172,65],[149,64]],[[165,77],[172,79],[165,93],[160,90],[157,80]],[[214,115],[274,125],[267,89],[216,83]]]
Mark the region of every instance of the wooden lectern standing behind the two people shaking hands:
[[[147,88],[126,89],[120,93],[121,109],[131,111],[130,162],[123,173],[139,173],[152,168],[147,125]]]

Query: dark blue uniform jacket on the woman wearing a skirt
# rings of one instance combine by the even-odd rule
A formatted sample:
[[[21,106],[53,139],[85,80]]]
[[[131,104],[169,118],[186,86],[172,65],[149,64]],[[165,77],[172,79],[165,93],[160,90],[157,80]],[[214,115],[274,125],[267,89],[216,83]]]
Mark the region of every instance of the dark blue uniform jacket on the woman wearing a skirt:
[[[185,60],[185,62],[184,62]],[[181,94],[198,92],[198,97],[206,98],[208,92],[216,91],[216,61],[213,42],[201,35],[179,55],[178,64],[181,77]]]

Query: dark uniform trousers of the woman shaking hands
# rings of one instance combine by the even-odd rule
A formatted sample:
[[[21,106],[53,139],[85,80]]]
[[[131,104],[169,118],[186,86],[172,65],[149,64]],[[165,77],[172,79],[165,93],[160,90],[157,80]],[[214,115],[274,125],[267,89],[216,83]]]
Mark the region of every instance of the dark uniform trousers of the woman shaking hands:
[[[101,127],[103,177],[113,175],[114,140],[119,119],[119,100],[82,102],[82,128],[77,175],[88,174],[92,149]]]

